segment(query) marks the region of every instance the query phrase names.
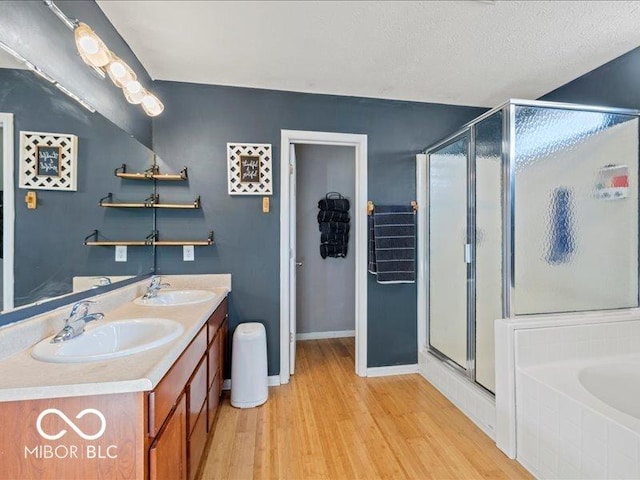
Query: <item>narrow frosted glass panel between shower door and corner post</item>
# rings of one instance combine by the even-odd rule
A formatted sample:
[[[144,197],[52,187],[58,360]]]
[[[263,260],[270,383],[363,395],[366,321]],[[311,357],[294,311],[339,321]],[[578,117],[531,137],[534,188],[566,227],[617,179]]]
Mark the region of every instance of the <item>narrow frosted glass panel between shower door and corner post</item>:
[[[476,382],[492,392],[493,323],[502,318],[502,117],[476,125]]]

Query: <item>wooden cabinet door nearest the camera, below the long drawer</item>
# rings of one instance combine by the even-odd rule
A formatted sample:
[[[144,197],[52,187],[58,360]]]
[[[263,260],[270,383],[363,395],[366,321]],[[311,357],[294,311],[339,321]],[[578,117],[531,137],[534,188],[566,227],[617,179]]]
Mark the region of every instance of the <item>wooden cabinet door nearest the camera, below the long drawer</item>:
[[[187,478],[187,402],[182,395],[165,428],[149,449],[150,480]]]

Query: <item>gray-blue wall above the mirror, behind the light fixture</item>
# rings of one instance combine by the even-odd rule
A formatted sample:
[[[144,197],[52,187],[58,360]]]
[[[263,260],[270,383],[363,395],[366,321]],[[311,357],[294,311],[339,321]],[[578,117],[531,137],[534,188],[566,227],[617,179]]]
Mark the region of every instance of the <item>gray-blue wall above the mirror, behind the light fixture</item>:
[[[93,1],[56,1],[69,17],[87,23],[107,47],[127,62],[140,82],[151,78],[120,34]],[[42,0],[0,1],[0,41],[20,53],[125,131],[151,146],[151,120],[127,103],[108,78],[99,78],[77,53],[73,32]]]

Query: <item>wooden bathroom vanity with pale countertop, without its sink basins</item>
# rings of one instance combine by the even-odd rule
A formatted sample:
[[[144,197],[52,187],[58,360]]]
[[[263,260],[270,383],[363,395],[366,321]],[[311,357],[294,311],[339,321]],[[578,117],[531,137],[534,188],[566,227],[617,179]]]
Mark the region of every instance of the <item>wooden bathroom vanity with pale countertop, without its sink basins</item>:
[[[220,401],[230,276],[165,277],[172,288],[196,288],[199,277],[229,277],[228,286],[181,306],[134,303],[148,281],[97,298],[106,310],[100,322],[147,316],[184,327],[176,340],[141,353],[84,363],[33,359],[21,346],[56,333],[69,307],[0,331],[0,342],[15,350],[0,359],[3,476],[196,478]]]

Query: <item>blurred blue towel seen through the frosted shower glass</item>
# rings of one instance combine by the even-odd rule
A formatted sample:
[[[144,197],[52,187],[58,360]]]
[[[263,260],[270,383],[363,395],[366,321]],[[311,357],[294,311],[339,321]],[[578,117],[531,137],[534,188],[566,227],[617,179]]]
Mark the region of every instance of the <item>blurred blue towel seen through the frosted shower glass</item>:
[[[573,204],[568,188],[556,188],[551,194],[551,224],[547,243],[547,262],[551,265],[567,263],[575,249],[573,239]]]

